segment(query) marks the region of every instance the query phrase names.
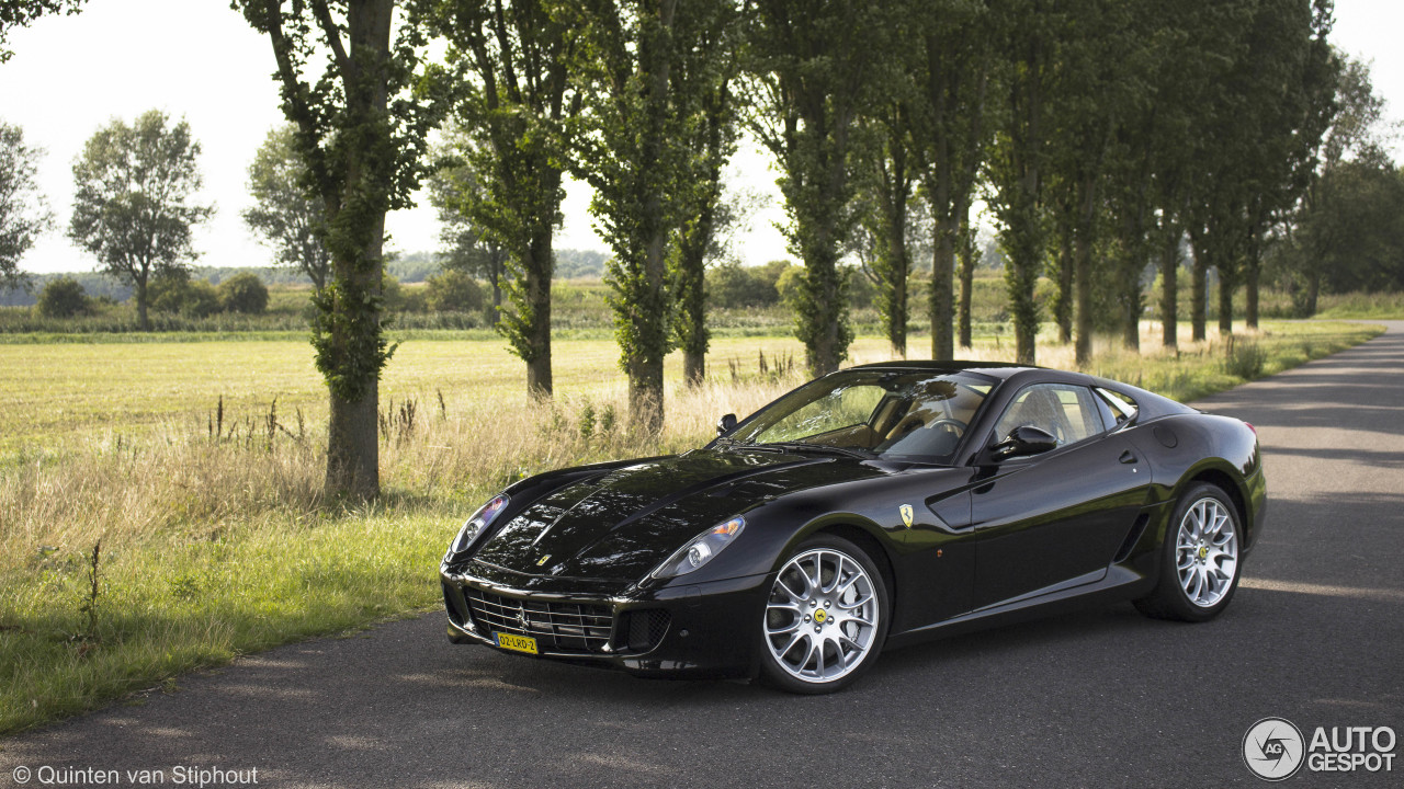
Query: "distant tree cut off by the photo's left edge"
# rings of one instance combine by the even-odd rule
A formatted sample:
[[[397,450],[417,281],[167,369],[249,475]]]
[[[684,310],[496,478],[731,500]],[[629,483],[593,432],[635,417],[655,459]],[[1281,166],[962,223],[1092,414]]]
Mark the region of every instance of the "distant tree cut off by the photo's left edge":
[[[0,122],[0,286],[4,288],[27,285],[20,260],[53,225],[53,213],[34,178],[42,154],[42,149],[25,145],[20,126]]]

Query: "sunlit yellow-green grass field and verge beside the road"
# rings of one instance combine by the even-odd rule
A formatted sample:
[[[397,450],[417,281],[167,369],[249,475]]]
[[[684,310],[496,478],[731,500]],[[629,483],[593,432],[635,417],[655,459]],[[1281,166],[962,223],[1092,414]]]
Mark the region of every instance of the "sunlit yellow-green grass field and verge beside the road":
[[[1090,372],[1193,399],[1375,331],[1266,324],[1167,352],[1147,323],[1143,354],[1099,344]],[[556,343],[557,397],[534,404],[501,340],[465,337],[409,338],[386,368],[385,496],[371,505],[322,493],[326,396],[305,340],[0,345],[0,733],[437,605],[435,560],[491,491],[696,446],[722,413],[747,414],[804,378],[793,338],[719,338],[699,389],[680,386],[668,359],[667,425],[646,437],[628,428],[612,341]],[[1009,359],[1009,343],[988,333],[967,355]],[[1073,366],[1070,347],[1039,354]],[[862,337],[851,357],[889,351]]]

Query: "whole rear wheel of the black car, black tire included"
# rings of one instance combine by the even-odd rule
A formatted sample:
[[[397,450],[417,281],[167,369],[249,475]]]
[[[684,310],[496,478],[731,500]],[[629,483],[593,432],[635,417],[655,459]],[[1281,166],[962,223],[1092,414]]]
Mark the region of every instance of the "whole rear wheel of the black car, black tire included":
[[[1207,622],[1233,599],[1243,574],[1243,525],[1228,496],[1213,484],[1192,484],[1165,526],[1160,581],[1137,601],[1146,616]]]

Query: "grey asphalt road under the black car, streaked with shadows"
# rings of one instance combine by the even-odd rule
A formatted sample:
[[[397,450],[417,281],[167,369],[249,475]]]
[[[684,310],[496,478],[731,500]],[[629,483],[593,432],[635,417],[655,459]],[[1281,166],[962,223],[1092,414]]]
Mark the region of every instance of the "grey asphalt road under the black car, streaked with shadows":
[[[1257,786],[1241,747],[1262,717],[1404,736],[1404,321],[1198,406],[1258,427],[1271,500],[1206,625],[1094,609],[887,653],[799,698],[452,647],[431,614],[11,738],[0,785],[22,765],[69,786],[90,768],[199,785],[191,767],[260,786]],[[1401,786],[1404,764],[1287,785]]]

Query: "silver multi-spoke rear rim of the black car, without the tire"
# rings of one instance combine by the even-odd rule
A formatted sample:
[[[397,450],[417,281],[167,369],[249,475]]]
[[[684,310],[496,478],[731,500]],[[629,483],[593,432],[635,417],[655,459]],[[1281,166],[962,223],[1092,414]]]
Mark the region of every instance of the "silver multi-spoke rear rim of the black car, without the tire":
[[[1203,497],[1189,505],[1175,535],[1175,570],[1185,598],[1213,608],[1238,573],[1238,532],[1221,501]]]

